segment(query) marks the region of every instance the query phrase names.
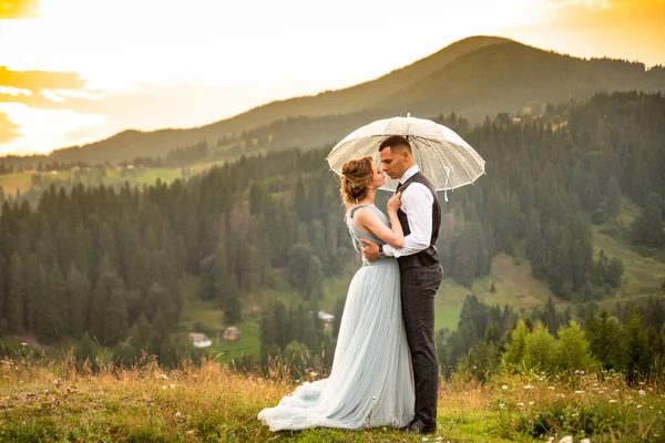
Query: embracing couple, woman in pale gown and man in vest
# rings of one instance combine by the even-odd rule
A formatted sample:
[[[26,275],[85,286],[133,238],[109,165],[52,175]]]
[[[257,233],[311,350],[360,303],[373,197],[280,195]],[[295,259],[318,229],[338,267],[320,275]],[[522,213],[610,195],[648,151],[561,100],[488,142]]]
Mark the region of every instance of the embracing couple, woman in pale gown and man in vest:
[[[362,267],[349,286],[330,377],[306,382],[258,419],[272,431],[390,425],[436,432],[439,365],[434,295],[443,277],[434,243],[441,208],[405,137],[342,167],[346,223]],[[399,178],[386,216],[375,206],[383,173]]]

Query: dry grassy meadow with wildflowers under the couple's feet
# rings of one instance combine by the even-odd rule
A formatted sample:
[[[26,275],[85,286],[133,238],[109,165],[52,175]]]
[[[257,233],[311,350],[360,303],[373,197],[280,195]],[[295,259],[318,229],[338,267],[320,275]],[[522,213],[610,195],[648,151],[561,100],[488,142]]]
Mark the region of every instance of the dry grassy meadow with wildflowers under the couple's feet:
[[[239,373],[215,361],[164,371],[151,359],[133,369],[4,360],[0,441],[421,442],[392,429],[270,433],[256,414],[296,385],[288,368]],[[620,374],[566,379],[463,374],[441,382],[430,442],[662,441],[662,385],[627,387]],[[438,439],[438,440],[437,440]]]

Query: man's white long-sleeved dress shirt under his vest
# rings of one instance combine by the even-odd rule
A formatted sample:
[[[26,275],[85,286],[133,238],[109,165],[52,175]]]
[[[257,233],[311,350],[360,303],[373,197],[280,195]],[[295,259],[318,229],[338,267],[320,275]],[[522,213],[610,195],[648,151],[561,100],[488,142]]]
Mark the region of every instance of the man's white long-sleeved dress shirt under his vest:
[[[418,172],[420,172],[418,165],[411,166],[400,177],[399,183],[403,184]],[[411,183],[402,192],[401,210],[407,214],[411,233],[405,237],[402,248],[383,245],[383,253],[388,257],[411,256],[429,248],[432,239],[433,205],[432,193],[421,183]]]

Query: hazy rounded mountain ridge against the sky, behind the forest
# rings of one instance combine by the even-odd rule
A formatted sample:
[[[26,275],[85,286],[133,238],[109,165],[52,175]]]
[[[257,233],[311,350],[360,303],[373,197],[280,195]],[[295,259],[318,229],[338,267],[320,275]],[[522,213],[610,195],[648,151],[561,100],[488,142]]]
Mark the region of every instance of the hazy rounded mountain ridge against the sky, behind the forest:
[[[479,122],[498,112],[538,114],[546,103],[628,90],[665,92],[665,69],[645,70],[642,63],[585,60],[503,38],[472,37],[351,87],[272,102],[201,127],[124,131],[101,142],[59,150],[50,157],[94,163],[165,156],[173,148],[203,140],[215,146],[222,138],[258,128],[278,125],[284,130],[294,121],[301,123],[303,117],[311,120],[310,124],[300,124],[298,132],[287,137],[288,145],[265,147],[320,146],[371,120],[408,112],[423,117],[456,112]],[[328,130],[319,131],[321,126]]]

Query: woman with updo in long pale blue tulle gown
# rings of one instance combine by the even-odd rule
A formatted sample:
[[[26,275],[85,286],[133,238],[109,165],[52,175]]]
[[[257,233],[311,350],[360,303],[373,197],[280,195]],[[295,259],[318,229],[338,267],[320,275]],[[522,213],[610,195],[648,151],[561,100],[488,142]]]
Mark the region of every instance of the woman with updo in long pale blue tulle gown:
[[[382,171],[371,157],[348,161],[341,171],[340,194],[356,250],[361,238],[401,248],[400,195],[388,202],[388,217],[375,206],[386,181]],[[258,419],[270,431],[402,427],[413,418],[413,395],[397,260],[364,258],[349,286],[330,377],[301,384]]]

